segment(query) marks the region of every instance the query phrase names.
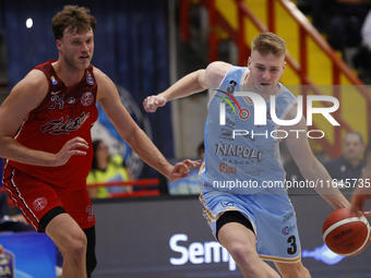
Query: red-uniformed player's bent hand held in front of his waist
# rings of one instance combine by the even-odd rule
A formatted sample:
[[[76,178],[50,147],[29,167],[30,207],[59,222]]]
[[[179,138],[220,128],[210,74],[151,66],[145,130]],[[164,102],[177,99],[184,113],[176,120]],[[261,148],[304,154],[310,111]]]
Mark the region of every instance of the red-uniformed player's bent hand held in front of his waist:
[[[86,155],[86,152],[82,149],[87,149],[88,144],[85,140],[82,137],[74,137],[72,140],[69,140],[65,142],[63,147],[59,150],[58,154],[56,154],[56,160],[52,164],[52,166],[62,166],[67,164],[67,161],[70,159],[71,156],[77,155],[77,156],[84,156]]]

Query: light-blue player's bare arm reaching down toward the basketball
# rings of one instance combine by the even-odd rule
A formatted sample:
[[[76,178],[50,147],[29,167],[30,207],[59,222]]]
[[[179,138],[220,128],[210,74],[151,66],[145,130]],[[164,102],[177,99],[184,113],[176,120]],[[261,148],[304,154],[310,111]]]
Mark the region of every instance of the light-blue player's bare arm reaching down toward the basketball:
[[[294,119],[297,114],[296,111],[297,107],[294,107],[288,113],[287,119]],[[314,190],[335,209],[349,207],[350,204],[342,192],[337,188],[332,186],[332,182],[327,182],[332,178],[313,155],[307,138],[308,129],[304,118],[296,125],[280,126],[280,129],[285,129],[289,134],[286,138],[286,145],[304,179],[312,182],[312,184],[316,184]],[[290,130],[302,132],[289,132]]]

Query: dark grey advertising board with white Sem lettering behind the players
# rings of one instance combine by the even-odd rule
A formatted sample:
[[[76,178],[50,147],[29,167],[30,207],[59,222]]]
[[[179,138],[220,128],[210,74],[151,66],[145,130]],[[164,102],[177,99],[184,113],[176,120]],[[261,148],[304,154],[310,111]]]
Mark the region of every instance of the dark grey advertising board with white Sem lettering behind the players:
[[[324,249],[322,225],[333,211],[324,200],[316,194],[290,198],[298,218],[302,262],[312,278],[370,277],[370,246],[345,258]],[[97,221],[95,278],[242,277],[215,242],[196,196],[100,201],[93,206]]]

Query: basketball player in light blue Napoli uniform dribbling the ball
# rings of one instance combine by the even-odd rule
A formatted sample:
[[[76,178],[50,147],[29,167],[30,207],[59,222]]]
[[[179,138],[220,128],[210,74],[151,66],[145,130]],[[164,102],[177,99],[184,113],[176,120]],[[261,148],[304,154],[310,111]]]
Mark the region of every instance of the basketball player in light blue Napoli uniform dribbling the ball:
[[[296,119],[296,97],[279,83],[285,71],[285,41],[272,33],[254,38],[248,68],[213,62],[182,77],[170,88],[144,100],[154,112],[169,100],[210,89],[205,124],[205,162],[200,195],[204,216],[215,238],[225,246],[244,277],[280,277],[264,261],[273,261],[283,277],[310,277],[300,257],[300,241],[292,205],[284,186],[266,186],[285,181],[279,133],[302,176],[309,181],[331,180],[309,146],[304,118],[295,125],[273,121]],[[249,97],[239,92],[250,92]],[[254,95],[255,94],[255,95]],[[275,96],[275,117],[270,111]],[[263,99],[265,124],[254,124],[254,99]],[[265,101],[264,101],[265,100]],[[265,107],[266,108],[265,108]],[[225,110],[223,110],[223,108]],[[220,116],[224,111],[224,116]],[[222,113],[223,114],[223,113]],[[286,133],[285,133],[286,132]],[[253,136],[252,134],[255,134]],[[272,136],[273,134],[273,136]],[[228,185],[227,185],[228,184]],[[349,207],[343,194],[333,188],[315,189],[335,209]]]

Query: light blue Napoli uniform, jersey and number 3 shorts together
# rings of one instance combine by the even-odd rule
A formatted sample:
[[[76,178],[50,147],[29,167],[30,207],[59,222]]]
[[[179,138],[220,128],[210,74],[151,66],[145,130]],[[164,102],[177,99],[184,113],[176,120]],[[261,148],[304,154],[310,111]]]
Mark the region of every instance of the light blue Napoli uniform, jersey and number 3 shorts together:
[[[219,217],[237,210],[252,223],[261,258],[297,263],[300,240],[294,207],[284,186],[277,138],[283,134],[278,135],[279,126],[272,120],[270,100],[265,101],[266,125],[254,125],[253,102],[246,96],[236,96],[236,92],[243,92],[240,84],[248,73],[248,68],[232,67],[212,92],[204,134],[205,162],[201,167],[205,185],[200,201],[215,238]],[[284,120],[297,98],[282,84],[275,97],[275,114]],[[219,124],[220,104],[226,108],[224,125]],[[244,131],[239,132],[244,135],[236,135],[236,130]]]

